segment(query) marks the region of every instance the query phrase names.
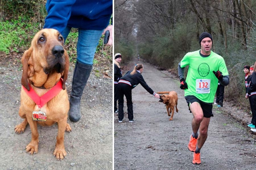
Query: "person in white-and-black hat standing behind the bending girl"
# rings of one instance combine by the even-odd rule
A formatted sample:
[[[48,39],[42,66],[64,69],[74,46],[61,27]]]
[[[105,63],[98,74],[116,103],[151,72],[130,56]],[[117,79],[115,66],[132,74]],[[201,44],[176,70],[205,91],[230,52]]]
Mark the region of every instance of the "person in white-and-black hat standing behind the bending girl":
[[[122,77],[122,71],[120,68],[120,62],[122,60],[122,55],[117,53],[114,55],[114,112],[117,113],[117,100],[118,100],[118,91],[117,84],[120,78]]]

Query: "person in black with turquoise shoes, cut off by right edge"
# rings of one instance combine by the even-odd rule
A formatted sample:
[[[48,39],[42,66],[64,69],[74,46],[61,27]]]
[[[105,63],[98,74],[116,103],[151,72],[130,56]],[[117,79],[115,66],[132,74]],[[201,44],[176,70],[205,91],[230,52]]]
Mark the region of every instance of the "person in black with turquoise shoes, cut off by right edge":
[[[251,75],[251,82],[249,82],[249,87],[247,93],[245,95],[246,99],[250,99],[250,105],[256,106],[256,62],[254,64],[254,70]],[[252,126],[251,131],[256,132],[255,125],[256,125],[256,107],[251,107],[252,109]]]

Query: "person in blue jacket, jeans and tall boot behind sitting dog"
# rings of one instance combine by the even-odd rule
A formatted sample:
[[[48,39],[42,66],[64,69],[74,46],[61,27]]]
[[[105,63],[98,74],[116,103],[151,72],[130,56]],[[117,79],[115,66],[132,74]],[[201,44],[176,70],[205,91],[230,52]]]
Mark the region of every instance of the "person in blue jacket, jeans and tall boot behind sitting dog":
[[[47,0],[44,28],[57,29],[66,40],[71,28],[78,28],[77,58],[69,99],[69,119],[81,118],[80,99],[93,68],[101,36],[109,30],[107,46],[112,45],[112,0]],[[112,20],[112,18],[111,18]]]

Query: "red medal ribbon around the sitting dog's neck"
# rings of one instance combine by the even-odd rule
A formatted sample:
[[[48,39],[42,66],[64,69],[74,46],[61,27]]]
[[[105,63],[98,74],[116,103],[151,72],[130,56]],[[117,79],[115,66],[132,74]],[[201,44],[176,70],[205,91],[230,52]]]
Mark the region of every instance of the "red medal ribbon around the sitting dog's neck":
[[[24,86],[22,87],[27,93],[27,95],[29,95],[29,97],[35,102],[35,104],[37,104],[38,107],[41,108],[45,105],[45,103],[49,102],[52,98],[59,94],[59,92],[62,90],[62,83],[63,80],[60,79],[60,81],[55,86],[53,86],[48,92],[46,92],[41,97],[39,97],[37,93],[33,90],[33,88],[31,88],[30,84],[30,91],[28,91]]]

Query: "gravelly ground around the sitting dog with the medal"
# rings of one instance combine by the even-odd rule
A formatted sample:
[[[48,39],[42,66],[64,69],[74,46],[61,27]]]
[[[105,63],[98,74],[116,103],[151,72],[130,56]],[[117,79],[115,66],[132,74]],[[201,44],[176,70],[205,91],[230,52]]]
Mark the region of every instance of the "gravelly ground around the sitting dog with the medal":
[[[106,68],[107,67],[107,68]],[[84,89],[81,102],[82,118],[70,122],[72,132],[65,133],[67,157],[57,161],[53,157],[57,124],[38,126],[38,153],[24,150],[31,140],[27,126],[23,134],[15,134],[21,123],[20,80],[22,71],[17,66],[0,65],[0,169],[1,170],[110,170],[113,166],[113,110],[112,79],[103,78],[102,71],[112,75],[112,64],[95,66]],[[97,71],[96,71],[97,70]],[[70,95],[74,64],[69,71],[67,90]],[[97,72],[98,76],[95,76]]]

